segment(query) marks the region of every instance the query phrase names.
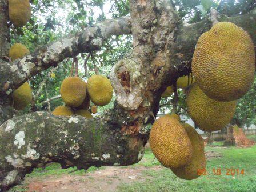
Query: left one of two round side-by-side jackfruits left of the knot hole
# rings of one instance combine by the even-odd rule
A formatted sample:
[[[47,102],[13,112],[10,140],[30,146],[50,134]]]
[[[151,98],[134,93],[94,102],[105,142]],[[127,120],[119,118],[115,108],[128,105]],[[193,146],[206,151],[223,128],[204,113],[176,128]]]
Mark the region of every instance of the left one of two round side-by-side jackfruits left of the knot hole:
[[[79,77],[68,77],[63,80],[60,91],[66,105],[78,107],[86,97],[86,83]]]

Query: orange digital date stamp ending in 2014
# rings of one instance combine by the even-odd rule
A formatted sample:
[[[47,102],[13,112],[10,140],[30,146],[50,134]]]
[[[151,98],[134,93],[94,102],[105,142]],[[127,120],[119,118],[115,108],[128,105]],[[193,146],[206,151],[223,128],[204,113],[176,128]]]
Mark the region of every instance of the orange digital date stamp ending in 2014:
[[[207,171],[206,169],[198,169],[197,170],[197,174],[198,175],[209,175],[209,174],[213,174],[213,175],[243,175],[245,174],[245,170],[244,169],[232,169],[232,168],[226,168],[226,169],[221,169],[221,168],[213,168],[211,169],[211,171]]]

